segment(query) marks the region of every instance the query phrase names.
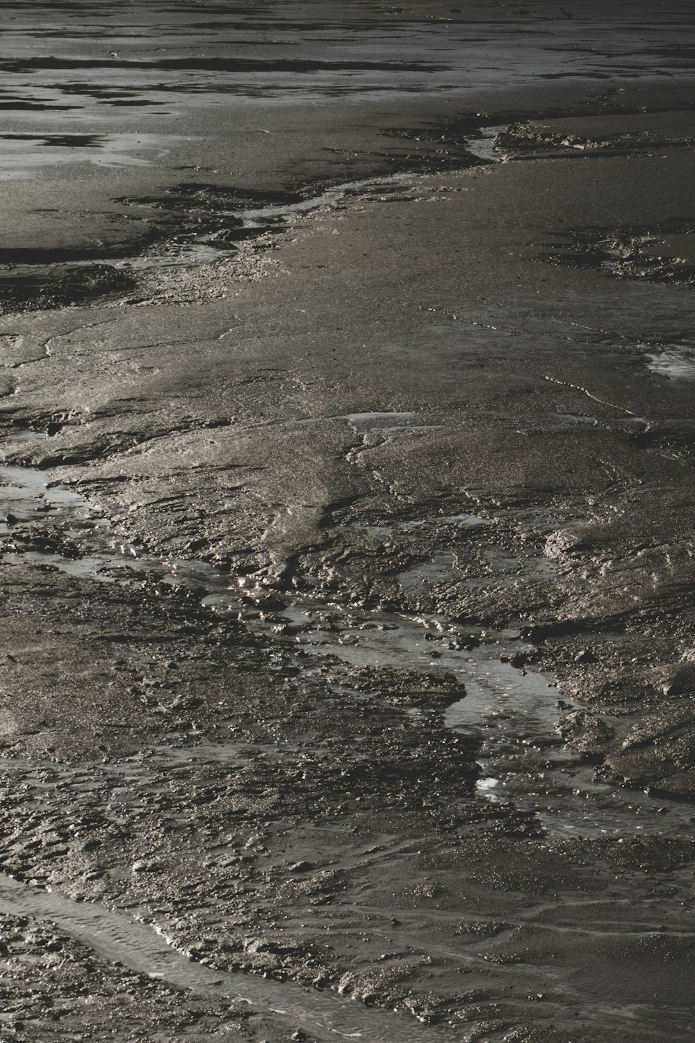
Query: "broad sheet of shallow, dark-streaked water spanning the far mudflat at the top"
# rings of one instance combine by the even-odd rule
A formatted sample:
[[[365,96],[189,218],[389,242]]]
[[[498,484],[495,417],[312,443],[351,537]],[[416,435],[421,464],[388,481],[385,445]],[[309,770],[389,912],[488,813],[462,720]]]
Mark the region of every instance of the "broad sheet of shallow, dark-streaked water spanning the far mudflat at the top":
[[[55,176],[66,164],[151,163],[153,150],[183,141],[168,143],[162,125],[172,119],[190,125],[203,108],[219,110],[231,125],[233,113],[248,104],[336,99],[381,103],[429,95],[472,112],[480,92],[500,86],[523,95],[539,80],[562,78],[604,92],[617,78],[672,84],[689,74],[681,42],[690,24],[677,6],[660,10],[657,22],[637,10],[619,20],[606,13],[598,31],[596,11],[579,19],[565,19],[561,7],[545,18],[527,14],[511,9],[502,20],[470,22],[455,7],[401,17],[397,7],[315,4],[290,5],[273,17],[255,5],[216,4],[214,11],[168,9],[163,23],[157,4],[80,17],[65,5],[56,14],[46,3],[9,3],[0,114],[7,114],[11,139],[5,138],[0,179]],[[499,161],[496,129],[476,135],[470,151]],[[180,162],[174,152],[164,167]]]

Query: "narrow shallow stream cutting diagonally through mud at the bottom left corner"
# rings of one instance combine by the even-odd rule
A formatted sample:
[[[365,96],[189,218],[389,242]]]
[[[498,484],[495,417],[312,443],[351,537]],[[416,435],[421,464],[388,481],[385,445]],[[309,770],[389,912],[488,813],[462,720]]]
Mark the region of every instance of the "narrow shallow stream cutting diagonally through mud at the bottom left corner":
[[[437,1029],[411,1024],[389,1012],[369,1011],[334,994],[260,975],[214,970],[190,960],[173,948],[164,933],[127,914],[77,902],[4,874],[0,874],[0,912],[49,921],[109,963],[120,963],[177,989],[249,1003],[279,1015],[292,1026],[299,1023],[324,1040],[435,1043],[445,1038]]]

